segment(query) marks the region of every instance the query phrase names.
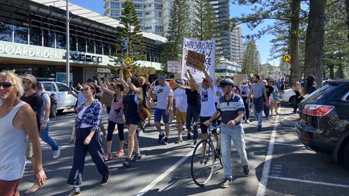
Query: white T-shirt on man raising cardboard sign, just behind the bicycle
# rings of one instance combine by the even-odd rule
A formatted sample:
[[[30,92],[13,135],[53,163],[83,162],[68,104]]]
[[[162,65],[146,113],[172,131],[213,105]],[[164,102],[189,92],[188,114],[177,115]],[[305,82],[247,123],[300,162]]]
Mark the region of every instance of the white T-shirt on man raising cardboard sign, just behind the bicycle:
[[[201,111],[200,116],[209,117],[216,112],[216,105],[214,105],[214,98],[216,96],[215,89],[204,89],[200,87],[201,91]]]

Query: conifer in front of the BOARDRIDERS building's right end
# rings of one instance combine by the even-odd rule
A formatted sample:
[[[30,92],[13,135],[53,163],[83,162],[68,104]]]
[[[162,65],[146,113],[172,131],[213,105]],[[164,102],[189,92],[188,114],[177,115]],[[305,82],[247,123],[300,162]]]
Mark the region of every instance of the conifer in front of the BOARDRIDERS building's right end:
[[[126,0],[124,5],[123,15],[120,17],[121,36],[117,36],[116,45],[118,50],[115,58],[116,63],[124,61],[126,56],[132,56],[133,64],[138,60],[145,60],[144,44],[142,43],[142,33],[140,31],[140,20],[135,10],[135,4],[131,0]]]

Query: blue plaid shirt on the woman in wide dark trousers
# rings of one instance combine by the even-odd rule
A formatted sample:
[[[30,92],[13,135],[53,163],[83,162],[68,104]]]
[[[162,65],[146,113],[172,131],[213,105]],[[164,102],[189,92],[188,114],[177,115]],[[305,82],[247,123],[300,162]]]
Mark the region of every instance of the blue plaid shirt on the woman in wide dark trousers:
[[[80,112],[84,108],[84,103],[80,105],[77,113]],[[89,107],[85,110],[84,114],[82,114],[82,119],[76,118],[75,128],[80,128],[82,123],[91,125],[94,130],[98,130],[98,126],[101,124],[101,116],[102,116],[102,105],[99,100],[94,100]]]

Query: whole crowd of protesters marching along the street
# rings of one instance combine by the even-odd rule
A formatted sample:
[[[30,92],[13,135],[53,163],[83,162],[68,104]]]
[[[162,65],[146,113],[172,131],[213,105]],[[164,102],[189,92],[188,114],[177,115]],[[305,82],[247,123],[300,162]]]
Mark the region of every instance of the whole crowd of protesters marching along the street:
[[[125,78],[123,69],[120,69],[119,78],[109,81],[108,77],[102,80],[101,75],[97,75],[96,80],[90,78],[84,84],[79,84],[77,93],[69,91],[77,98],[78,105],[75,108],[77,115],[71,136],[75,145],[73,165],[70,174],[67,174],[67,183],[73,186],[73,190],[67,195],[80,195],[87,152],[102,176],[99,185],[104,186],[108,182],[110,171],[107,162],[113,157],[112,137],[116,130],[119,147],[114,156],[125,156],[122,164],[126,167],[131,167],[132,162],[142,159],[141,141],[138,137],[149,126],[151,118],[142,118],[140,113],[144,112],[142,110],[151,112],[153,100],[156,100],[154,124],[158,131],[158,143],[170,143],[171,116],[175,116],[177,121],[178,138],[174,143],[183,142],[182,134],[186,131],[186,140],[193,142],[191,147],[195,147],[198,142],[198,132],[193,130],[193,123],[202,122],[202,140],[207,139],[209,126],[221,125],[221,135],[214,133],[217,153],[222,155],[224,165],[225,179],[221,187],[227,188],[232,183],[231,141],[239,153],[243,172],[248,175],[242,124],[250,123],[250,112],[253,112],[258,122],[256,129],[261,131],[262,112],[265,112],[266,120],[274,112],[279,115],[279,92],[285,88],[285,82],[262,80],[260,75],[253,75],[251,80],[235,84],[233,78],[211,78],[206,70],[203,73],[205,77],[200,83],[190,71],[184,74],[185,78],[171,82],[166,82],[165,76],[159,75],[158,85],[154,86],[149,82],[149,75],[137,77],[128,72],[131,77]],[[302,89],[299,82],[295,82],[293,89],[297,93],[297,103],[315,91],[314,81],[313,76],[306,77],[306,90]],[[34,185],[26,193],[34,193],[43,186],[46,179],[39,137],[51,146],[52,158],[60,156],[61,147],[49,135],[50,118],[56,117],[57,98],[54,94],[48,95],[33,75],[19,77],[13,71],[3,70],[0,73],[0,100],[0,123],[6,127],[6,134],[0,137],[0,195],[18,195],[17,187],[26,158],[33,165],[34,172]],[[101,118],[103,108],[108,114],[107,130]],[[13,125],[8,122],[13,122]],[[165,132],[162,126],[165,126]],[[126,138],[124,128],[128,130]],[[101,131],[105,140],[101,138]],[[103,144],[106,144],[106,150],[103,150]],[[125,144],[128,146],[127,154],[124,154]]]

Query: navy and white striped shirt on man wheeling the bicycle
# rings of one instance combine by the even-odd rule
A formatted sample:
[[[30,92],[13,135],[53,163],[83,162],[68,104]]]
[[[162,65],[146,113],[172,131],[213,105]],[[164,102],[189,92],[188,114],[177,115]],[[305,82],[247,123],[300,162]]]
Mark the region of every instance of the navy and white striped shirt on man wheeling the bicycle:
[[[221,112],[222,123],[228,123],[238,116],[239,111],[245,111],[244,101],[242,98],[233,93],[232,98],[225,100],[225,96],[219,98],[216,110]]]

